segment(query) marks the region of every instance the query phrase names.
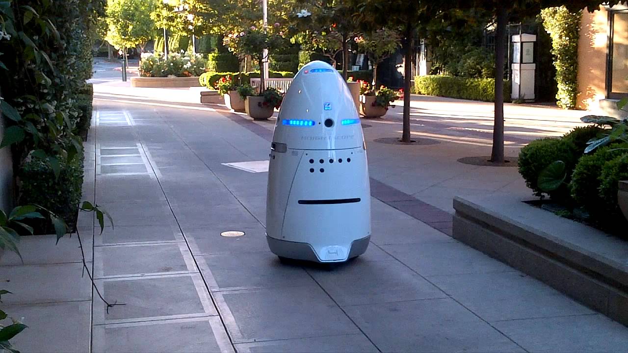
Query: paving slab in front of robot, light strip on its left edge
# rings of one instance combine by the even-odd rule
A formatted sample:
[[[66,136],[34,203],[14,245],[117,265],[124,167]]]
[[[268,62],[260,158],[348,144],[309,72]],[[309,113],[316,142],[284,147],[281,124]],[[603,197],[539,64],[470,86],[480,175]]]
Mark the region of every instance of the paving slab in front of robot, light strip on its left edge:
[[[317,285],[214,293],[234,343],[359,334]]]

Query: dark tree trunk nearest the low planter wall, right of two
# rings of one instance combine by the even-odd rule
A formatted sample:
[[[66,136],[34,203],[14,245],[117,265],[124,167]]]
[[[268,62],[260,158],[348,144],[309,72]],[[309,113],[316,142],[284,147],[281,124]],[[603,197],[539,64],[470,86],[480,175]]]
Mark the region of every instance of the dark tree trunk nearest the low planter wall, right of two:
[[[497,1],[497,31],[495,33],[495,124],[490,161],[504,163],[504,41],[508,15],[506,7]]]

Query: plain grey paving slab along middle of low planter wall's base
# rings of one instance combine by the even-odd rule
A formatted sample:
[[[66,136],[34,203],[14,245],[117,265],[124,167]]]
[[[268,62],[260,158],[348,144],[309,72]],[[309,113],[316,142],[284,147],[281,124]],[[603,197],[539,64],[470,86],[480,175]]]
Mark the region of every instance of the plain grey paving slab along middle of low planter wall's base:
[[[488,322],[593,313],[519,271],[430,276],[428,280]]]

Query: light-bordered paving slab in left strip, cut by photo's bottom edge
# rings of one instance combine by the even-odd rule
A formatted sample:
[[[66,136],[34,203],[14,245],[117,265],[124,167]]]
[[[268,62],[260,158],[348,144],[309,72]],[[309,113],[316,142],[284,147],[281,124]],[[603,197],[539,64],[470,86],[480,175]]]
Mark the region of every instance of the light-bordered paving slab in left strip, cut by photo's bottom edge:
[[[114,323],[94,327],[93,352],[233,352],[219,317]]]

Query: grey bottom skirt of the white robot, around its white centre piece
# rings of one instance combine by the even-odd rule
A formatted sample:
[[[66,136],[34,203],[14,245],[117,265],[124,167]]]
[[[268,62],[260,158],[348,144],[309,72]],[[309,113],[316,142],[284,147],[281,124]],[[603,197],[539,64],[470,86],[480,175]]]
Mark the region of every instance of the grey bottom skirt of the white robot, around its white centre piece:
[[[306,242],[284,241],[266,236],[268,246],[271,248],[273,254],[279,256],[279,258],[313,261],[315,263],[342,263],[356,256],[360,256],[366,251],[370,240],[371,236],[367,236],[353,241],[351,243],[351,249],[349,250],[349,256],[347,256],[345,260],[320,261],[314,249]]]

